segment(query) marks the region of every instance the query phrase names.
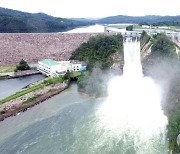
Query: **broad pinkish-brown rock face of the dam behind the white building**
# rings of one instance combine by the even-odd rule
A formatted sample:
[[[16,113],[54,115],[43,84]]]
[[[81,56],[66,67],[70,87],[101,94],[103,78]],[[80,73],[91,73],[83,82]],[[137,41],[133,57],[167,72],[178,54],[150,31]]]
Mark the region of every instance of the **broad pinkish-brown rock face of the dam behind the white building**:
[[[51,58],[67,60],[71,53],[98,33],[6,33],[0,34],[0,65],[16,65]],[[112,35],[112,34],[107,34]]]

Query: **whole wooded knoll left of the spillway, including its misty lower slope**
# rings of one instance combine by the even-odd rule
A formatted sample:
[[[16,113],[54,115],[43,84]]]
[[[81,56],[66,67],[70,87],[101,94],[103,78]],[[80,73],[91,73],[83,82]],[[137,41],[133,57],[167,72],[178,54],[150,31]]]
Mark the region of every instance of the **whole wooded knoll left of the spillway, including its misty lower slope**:
[[[121,34],[91,37],[72,53],[70,59],[85,61],[90,70],[78,77],[79,91],[94,97],[104,96],[109,70],[120,72],[124,63],[123,37]]]

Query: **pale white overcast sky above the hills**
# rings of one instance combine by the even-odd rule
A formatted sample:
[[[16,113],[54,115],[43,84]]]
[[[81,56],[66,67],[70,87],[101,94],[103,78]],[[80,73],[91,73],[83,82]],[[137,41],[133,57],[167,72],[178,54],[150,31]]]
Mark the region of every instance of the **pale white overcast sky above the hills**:
[[[180,15],[180,0],[0,0],[0,7],[65,18]]]

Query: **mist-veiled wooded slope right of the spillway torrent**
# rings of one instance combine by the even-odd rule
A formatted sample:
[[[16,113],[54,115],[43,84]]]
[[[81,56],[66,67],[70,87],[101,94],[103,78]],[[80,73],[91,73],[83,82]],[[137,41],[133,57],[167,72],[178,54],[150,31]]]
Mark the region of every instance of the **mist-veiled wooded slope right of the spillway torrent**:
[[[163,110],[168,116],[169,149],[180,153],[177,136],[180,134],[180,60],[176,53],[178,47],[164,34],[152,37],[143,32],[141,44],[151,42],[151,53],[144,59],[143,66],[165,92]]]

